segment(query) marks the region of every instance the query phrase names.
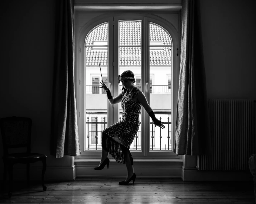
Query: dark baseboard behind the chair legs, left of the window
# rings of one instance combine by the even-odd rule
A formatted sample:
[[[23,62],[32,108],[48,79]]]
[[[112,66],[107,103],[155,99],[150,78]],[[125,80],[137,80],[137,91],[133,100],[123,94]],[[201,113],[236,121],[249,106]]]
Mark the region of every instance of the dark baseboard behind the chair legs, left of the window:
[[[42,167],[30,167],[30,180],[41,180]],[[8,178],[6,178],[8,179]],[[44,175],[45,181],[50,180],[75,180],[76,165],[73,167],[47,167]],[[13,169],[13,180],[26,180],[26,168]]]

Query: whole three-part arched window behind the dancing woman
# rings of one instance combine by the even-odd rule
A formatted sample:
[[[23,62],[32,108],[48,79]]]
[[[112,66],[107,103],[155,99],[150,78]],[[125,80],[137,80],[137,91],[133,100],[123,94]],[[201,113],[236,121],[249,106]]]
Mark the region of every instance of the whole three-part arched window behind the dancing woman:
[[[172,121],[175,121],[175,117],[172,110],[177,108],[177,96],[173,95],[172,89],[178,89],[178,80],[172,81],[171,76],[177,76],[178,73],[177,29],[174,29],[172,24],[164,24],[162,19],[155,16],[116,15],[93,20],[90,26],[87,25],[79,31],[79,39],[79,47],[84,43],[84,51],[79,54],[78,62],[82,65],[84,61],[81,73],[86,90],[83,92],[81,88],[81,96],[84,96],[84,104],[81,104],[81,107],[84,107],[84,118],[91,117],[91,121],[95,122],[93,114],[98,117],[95,124],[87,122],[87,119],[81,121],[84,127],[82,155],[100,155],[101,142],[97,141],[96,150],[93,147],[96,139],[92,137],[97,134],[98,139],[101,138],[103,126],[109,127],[122,119],[120,104],[111,105],[106,95],[101,94],[104,91],[100,88],[100,63],[102,80],[113,96],[117,96],[121,91],[117,76],[125,70],[134,72],[135,85],[145,94],[156,117],[165,124],[165,129],[155,127],[142,108],[139,131],[130,147],[134,152],[133,156],[174,156]],[[92,86],[91,92],[87,91],[87,86]],[[94,131],[94,135],[87,134],[88,129]],[[88,141],[91,143],[90,148]]]

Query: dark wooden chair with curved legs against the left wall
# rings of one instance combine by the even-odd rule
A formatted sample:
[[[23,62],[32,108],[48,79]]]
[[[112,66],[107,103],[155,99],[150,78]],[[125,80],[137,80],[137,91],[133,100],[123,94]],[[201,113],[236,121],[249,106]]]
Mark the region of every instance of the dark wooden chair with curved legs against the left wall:
[[[37,161],[42,161],[42,186],[43,190],[46,190],[44,185],[44,174],[46,170],[46,155],[31,153],[31,126],[32,120],[30,118],[22,117],[7,117],[0,119],[0,128],[3,139],[3,161],[4,161],[4,178],[3,178],[3,191],[6,181],[6,174],[8,170],[9,174],[9,198],[13,191],[13,165],[16,163],[26,164],[26,179],[29,186],[29,165]],[[26,152],[9,153],[9,148],[26,147]]]

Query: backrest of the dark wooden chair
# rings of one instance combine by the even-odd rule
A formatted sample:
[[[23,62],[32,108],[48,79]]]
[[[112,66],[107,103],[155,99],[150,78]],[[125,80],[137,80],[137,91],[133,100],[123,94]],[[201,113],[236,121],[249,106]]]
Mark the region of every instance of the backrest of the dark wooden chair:
[[[4,154],[8,148],[26,147],[30,153],[32,119],[23,117],[7,117],[0,119]]]

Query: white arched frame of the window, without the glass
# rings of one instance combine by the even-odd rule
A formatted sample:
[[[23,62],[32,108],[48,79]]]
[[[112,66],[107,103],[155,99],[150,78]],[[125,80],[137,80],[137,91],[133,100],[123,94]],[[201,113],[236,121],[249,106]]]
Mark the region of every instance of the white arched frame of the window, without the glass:
[[[173,101],[173,107],[172,107],[172,124],[175,124],[176,122],[176,110],[177,110],[177,96],[178,96],[178,81],[179,81],[179,61],[180,61],[180,57],[176,55],[176,48],[179,49],[179,34],[177,31],[177,28],[175,28],[169,21],[167,20],[163,20],[162,18],[156,16],[156,15],[151,15],[151,14],[123,14],[123,13],[118,13],[118,12],[110,12],[109,14],[105,14],[105,15],[101,15],[101,16],[97,16],[93,19],[93,21],[87,22],[86,24],[84,24],[81,29],[79,29],[78,34],[76,35],[76,61],[75,61],[75,83],[76,83],[76,99],[77,99],[77,114],[78,114],[78,131],[79,131],[79,141],[80,141],[80,145],[81,145],[81,155],[77,156],[76,158],[99,158],[99,156],[101,155],[101,152],[90,152],[90,151],[84,151],[84,146],[85,146],[85,137],[86,137],[86,133],[85,133],[85,122],[86,122],[86,118],[84,118],[84,100],[85,100],[85,94],[84,94],[84,86],[85,86],[85,77],[84,77],[84,42],[86,39],[87,34],[97,25],[102,24],[104,22],[109,22],[109,25],[112,24],[112,16],[115,16],[115,19],[137,19],[140,18],[143,20],[143,28],[145,27],[146,29],[149,28],[149,22],[154,22],[155,24],[158,24],[159,26],[162,26],[165,28],[166,31],[169,32],[169,34],[171,35],[172,39],[175,39],[173,41],[173,63],[172,63],[172,101]],[[110,29],[111,30],[111,29]],[[111,40],[110,40],[111,41]],[[109,42],[113,43],[112,42]],[[143,44],[145,45],[145,47],[149,46],[149,41],[148,41],[148,37],[144,37],[144,41]],[[109,50],[108,53],[108,61],[112,61],[112,55],[111,55],[112,50]],[[145,53],[144,53],[145,55]],[[148,56],[149,58],[149,56]],[[144,83],[143,86],[143,92],[146,96],[146,98],[149,99],[149,92],[145,92],[145,82],[146,80],[148,80],[149,83],[149,70],[146,70],[146,67],[149,67],[149,60],[147,57],[144,56],[143,61],[142,61],[142,71],[144,71],[145,75],[142,76],[141,80]],[[115,60],[118,60],[117,58]],[[111,71],[111,70],[110,70]],[[148,76],[146,76],[148,75]],[[109,76],[110,77],[110,76]],[[114,78],[114,77],[113,77]],[[113,78],[111,78],[111,80],[113,80]],[[153,81],[154,81],[154,77],[153,77]],[[108,80],[108,82],[110,82],[110,80]],[[153,82],[154,83],[154,82]],[[175,89],[173,89],[173,87],[175,87]],[[110,106],[108,106],[110,108]],[[111,105],[112,107],[112,105]],[[148,114],[146,114],[145,109],[143,108],[142,111],[142,119],[145,121],[149,121],[149,116]],[[80,113],[80,114],[79,114]],[[111,116],[108,117],[108,121],[111,120]],[[147,131],[145,131],[145,134],[149,134],[149,124],[146,124],[145,128]],[[175,133],[175,127],[174,125],[172,125],[172,132]],[[148,138],[148,136],[144,136],[144,140],[145,138]],[[173,151],[174,151],[174,144],[175,144],[175,136],[173,135],[172,138],[172,147],[173,147]],[[163,151],[163,152],[149,152],[148,148],[146,148],[146,146],[149,147],[149,140],[146,139],[144,144],[142,145],[143,147],[143,152],[141,154],[141,152],[133,152],[133,157],[136,158],[147,158],[147,159],[156,159],[156,158],[161,158],[161,159],[177,159],[177,158],[181,158],[181,156],[177,156],[176,154],[173,153],[173,151]],[[146,150],[146,151],[145,151]]]

